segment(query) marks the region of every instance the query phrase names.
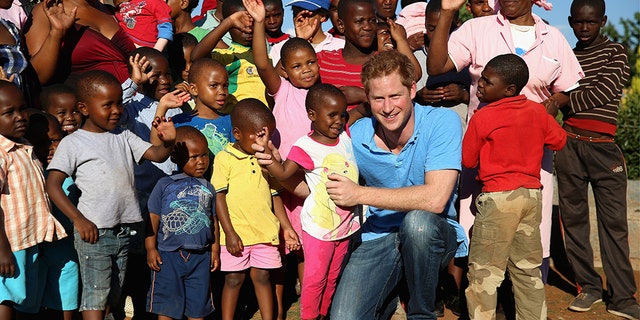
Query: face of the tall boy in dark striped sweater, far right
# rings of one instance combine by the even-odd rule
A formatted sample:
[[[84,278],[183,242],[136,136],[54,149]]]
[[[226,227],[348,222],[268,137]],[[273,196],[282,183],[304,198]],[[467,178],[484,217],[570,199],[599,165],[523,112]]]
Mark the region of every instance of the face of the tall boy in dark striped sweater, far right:
[[[573,29],[573,34],[578,38],[580,46],[588,46],[600,34],[600,28],[607,24],[607,16],[603,16],[596,8],[591,6],[581,6],[577,10],[571,11],[569,25]]]

